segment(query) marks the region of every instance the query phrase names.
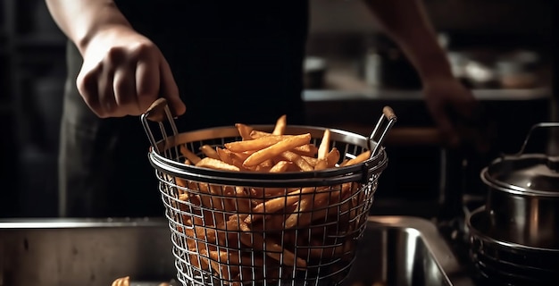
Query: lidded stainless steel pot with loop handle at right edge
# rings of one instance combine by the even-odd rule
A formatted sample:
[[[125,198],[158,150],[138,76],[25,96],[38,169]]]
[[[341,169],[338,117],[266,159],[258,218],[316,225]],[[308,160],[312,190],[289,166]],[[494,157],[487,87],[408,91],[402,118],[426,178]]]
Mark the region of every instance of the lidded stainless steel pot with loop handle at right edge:
[[[496,239],[559,249],[559,156],[523,154],[532,131],[549,127],[559,122],[534,125],[518,154],[497,158],[480,173]]]

